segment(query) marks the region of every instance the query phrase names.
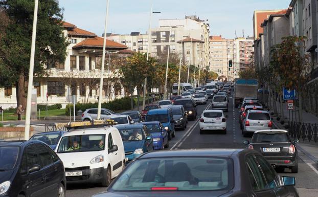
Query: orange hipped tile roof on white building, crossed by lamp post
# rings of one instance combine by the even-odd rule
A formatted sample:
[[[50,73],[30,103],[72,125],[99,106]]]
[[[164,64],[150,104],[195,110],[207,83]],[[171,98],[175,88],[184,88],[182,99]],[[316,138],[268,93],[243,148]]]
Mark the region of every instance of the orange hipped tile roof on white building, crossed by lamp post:
[[[73,49],[78,48],[85,48],[85,47],[95,47],[95,48],[103,48],[103,42],[104,38],[102,37],[92,37],[92,38],[86,38],[83,41],[77,43],[75,46],[73,46]],[[127,49],[125,45],[122,45],[120,43],[106,40],[106,48],[116,48],[116,49]]]

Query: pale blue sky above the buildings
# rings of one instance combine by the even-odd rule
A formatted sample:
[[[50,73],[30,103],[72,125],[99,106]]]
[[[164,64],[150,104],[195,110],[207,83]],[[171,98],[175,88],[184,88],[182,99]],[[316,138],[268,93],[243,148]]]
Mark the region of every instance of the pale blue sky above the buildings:
[[[223,38],[253,36],[254,10],[286,9],[291,0],[109,0],[107,33],[146,33],[149,27],[151,2],[153,11],[151,27],[158,27],[159,19],[185,18],[197,15],[209,19],[210,35]],[[106,0],[59,0],[64,8],[64,20],[78,28],[104,33]]]

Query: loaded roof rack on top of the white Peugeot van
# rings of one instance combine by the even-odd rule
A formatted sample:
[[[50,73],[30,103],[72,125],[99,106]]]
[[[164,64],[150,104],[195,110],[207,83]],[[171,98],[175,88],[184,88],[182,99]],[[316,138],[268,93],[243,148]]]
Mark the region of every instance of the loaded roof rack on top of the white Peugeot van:
[[[55,123],[56,127],[65,127],[67,130],[70,129],[79,129],[79,128],[96,128],[96,127],[105,127],[113,126],[116,122],[110,119],[106,120],[92,120],[90,121],[81,121],[81,122],[69,122],[69,123]]]

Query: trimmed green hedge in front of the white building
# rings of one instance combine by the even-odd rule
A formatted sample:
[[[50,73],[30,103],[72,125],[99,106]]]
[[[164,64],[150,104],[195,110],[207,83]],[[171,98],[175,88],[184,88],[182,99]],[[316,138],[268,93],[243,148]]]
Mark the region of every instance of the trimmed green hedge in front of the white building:
[[[133,105],[135,105],[135,101],[133,100]],[[65,115],[70,116],[70,106],[71,106],[71,114],[73,116],[73,104],[67,104],[65,108]],[[88,108],[98,108],[98,102],[96,103],[77,103],[75,105],[75,114],[77,115],[77,112],[81,110],[84,112]],[[102,108],[107,108],[108,110],[117,112],[117,111],[123,111],[123,110],[130,110],[131,109],[131,101],[130,97],[124,97],[120,99],[115,99],[113,101],[110,101],[108,103],[104,102],[102,103]]]

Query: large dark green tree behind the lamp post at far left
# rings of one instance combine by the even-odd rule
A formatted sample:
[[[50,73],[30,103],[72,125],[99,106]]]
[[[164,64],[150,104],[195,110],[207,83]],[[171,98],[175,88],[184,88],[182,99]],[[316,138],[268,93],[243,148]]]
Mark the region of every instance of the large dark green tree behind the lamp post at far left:
[[[15,85],[17,105],[26,106],[30,65],[34,1],[0,0],[0,9],[9,17],[0,40],[0,85]],[[63,36],[62,9],[58,0],[39,1],[35,43],[34,76],[47,75],[44,65],[63,63],[69,44]]]

